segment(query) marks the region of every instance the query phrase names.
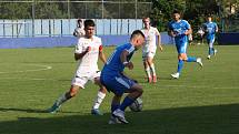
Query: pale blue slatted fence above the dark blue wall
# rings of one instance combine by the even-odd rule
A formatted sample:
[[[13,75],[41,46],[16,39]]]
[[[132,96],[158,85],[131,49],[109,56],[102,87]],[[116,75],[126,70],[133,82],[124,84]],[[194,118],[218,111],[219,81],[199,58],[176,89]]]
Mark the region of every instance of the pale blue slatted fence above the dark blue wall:
[[[126,35],[142,28],[141,19],[93,19],[96,34]],[[77,19],[0,20],[0,38],[69,37]]]

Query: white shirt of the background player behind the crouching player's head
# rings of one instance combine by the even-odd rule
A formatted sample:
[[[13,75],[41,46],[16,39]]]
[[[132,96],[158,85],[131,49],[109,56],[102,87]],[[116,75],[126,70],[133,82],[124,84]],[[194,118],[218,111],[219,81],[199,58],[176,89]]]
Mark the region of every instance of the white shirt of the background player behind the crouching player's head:
[[[142,52],[147,53],[150,51],[156,51],[157,44],[156,44],[156,37],[160,35],[159,31],[157,28],[150,27],[149,30],[147,29],[141,29],[142,33],[146,37],[146,44],[142,48]]]

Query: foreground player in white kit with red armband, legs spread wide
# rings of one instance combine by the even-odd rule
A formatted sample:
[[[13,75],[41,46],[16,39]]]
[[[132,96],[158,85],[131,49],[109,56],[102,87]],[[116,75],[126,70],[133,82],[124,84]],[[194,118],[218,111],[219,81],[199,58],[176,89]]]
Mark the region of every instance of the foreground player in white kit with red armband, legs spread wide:
[[[102,115],[99,106],[106,96],[106,87],[100,83],[100,71],[98,69],[98,58],[106,63],[106,56],[102,51],[101,39],[93,35],[94,22],[92,20],[84,21],[86,35],[79,38],[76,47],[74,59],[79,61],[74,78],[72,79],[70,90],[61,95],[54,104],[49,109],[50,113],[56,113],[62,103],[76,96],[80,89],[84,89],[84,84],[91,80],[99,85],[100,90],[97,94],[91,114]]]

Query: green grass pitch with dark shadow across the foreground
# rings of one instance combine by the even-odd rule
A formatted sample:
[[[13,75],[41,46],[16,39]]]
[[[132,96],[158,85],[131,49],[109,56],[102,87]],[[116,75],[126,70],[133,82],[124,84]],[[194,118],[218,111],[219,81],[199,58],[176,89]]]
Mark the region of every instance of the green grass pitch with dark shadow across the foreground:
[[[98,91],[91,82],[59,113],[44,112],[70,87],[73,48],[0,50],[0,134],[238,134],[239,45],[216,48],[207,60],[206,45],[189,47],[188,55],[201,56],[203,69],[186,63],[181,78],[171,80],[177,52],[165,47],[155,58],[157,84],[146,83],[138,51],[127,73],[143,86],[143,111],[127,110],[128,125],[108,125],[112,93],[101,105],[103,116],[90,114]],[[113,49],[104,48],[106,55]]]

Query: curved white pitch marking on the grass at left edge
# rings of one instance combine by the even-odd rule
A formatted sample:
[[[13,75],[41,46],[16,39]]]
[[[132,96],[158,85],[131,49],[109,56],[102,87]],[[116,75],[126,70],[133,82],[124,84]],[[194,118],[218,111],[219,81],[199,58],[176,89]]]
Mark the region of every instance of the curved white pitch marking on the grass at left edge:
[[[24,72],[38,72],[38,71],[46,71],[46,70],[51,70],[52,66],[50,65],[43,65],[43,64],[26,64],[30,66],[40,66],[41,69],[32,69],[32,70],[21,70],[21,71],[9,71],[9,72],[0,72],[2,73],[24,73]]]

